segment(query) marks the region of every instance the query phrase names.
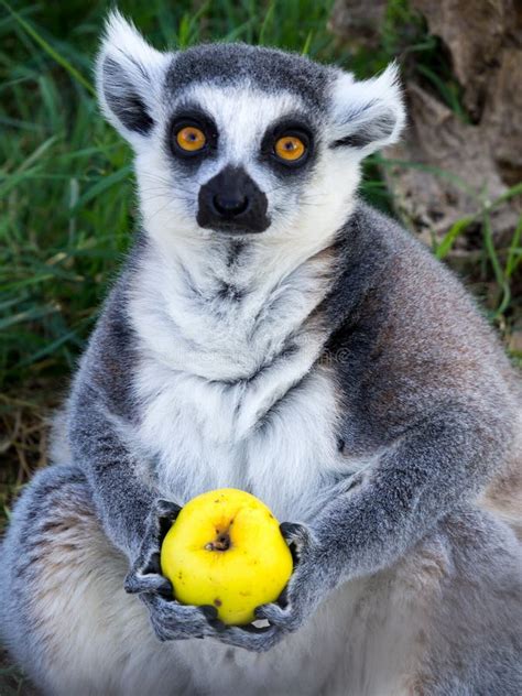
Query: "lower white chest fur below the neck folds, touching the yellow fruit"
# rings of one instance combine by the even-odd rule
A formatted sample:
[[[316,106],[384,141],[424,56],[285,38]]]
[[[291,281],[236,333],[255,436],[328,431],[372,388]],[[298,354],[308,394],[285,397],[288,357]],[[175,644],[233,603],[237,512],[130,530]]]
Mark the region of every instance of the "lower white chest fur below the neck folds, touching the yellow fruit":
[[[156,396],[140,436],[156,463],[162,494],[184,503],[232,487],[253,492],[279,518],[311,514],[320,479],[337,460],[335,395],[324,370],[307,376],[261,421],[255,409],[262,388],[209,384],[157,366],[148,366],[143,378],[150,387],[155,382]],[[246,421],[251,427],[243,432]]]

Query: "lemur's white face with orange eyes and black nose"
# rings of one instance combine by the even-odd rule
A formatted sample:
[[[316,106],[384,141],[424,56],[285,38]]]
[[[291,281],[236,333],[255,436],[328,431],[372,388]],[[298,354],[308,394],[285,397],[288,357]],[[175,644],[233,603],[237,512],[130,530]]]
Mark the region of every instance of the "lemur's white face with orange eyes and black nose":
[[[194,85],[175,99],[165,123],[165,175],[205,230],[259,235],[281,228],[306,205],[322,145],[317,121],[285,91],[270,94],[248,81]]]

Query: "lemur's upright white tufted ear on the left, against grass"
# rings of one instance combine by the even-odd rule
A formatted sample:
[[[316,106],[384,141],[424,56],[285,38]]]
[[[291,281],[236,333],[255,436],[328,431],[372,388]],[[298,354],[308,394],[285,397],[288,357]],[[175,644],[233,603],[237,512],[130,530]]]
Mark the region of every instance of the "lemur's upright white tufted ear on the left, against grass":
[[[107,119],[132,144],[154,126],[168,55],[150,46],[119,12],[107,18],[96,64],[98,98]]]

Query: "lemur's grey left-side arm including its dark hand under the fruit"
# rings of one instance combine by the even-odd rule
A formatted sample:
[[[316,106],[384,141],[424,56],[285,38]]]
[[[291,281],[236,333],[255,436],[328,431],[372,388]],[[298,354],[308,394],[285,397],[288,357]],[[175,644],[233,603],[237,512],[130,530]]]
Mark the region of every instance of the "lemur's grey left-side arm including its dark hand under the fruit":
[[[153,471],[132,445],[129,382],[135,366],[134,337],[119,293],[115,289],[107,302],[73,389],[73,458],[86,472],[107,536],[129,558],[124,589],[139,594],[148,606],[157,637],[215,637],[222,628],[216,608],[172,601],[172,586],[161,575],[161,537],[180,508],[159,499]]]

